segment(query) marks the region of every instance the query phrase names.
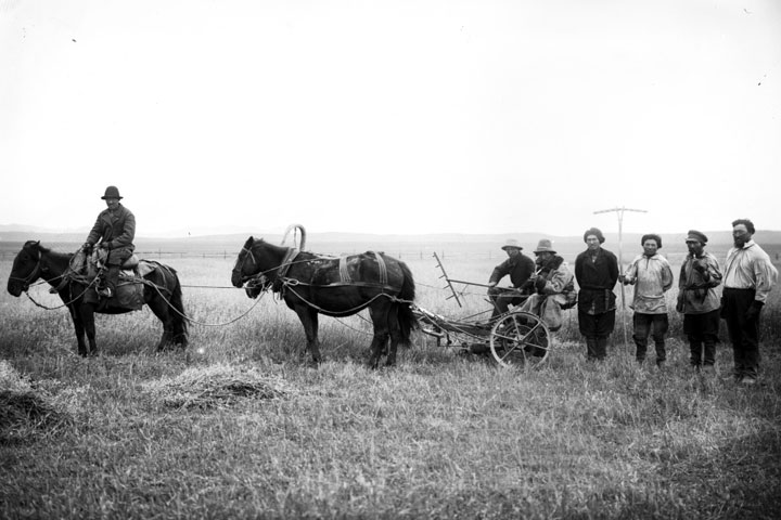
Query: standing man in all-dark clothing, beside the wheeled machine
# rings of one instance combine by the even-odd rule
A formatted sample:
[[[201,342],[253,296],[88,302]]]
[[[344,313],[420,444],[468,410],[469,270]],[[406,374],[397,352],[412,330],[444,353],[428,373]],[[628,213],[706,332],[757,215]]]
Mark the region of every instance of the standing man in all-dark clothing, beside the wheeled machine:
[[[607,355],[607,337],[615,327],[615,292],[618,281],[618,260],[602,249],[604,235],[597,227],[584,233],[587,249],[575,259],[575,278],[580,286],[578,295],[578,327],[586,337],[586,355],[589,361],[604,360]]]

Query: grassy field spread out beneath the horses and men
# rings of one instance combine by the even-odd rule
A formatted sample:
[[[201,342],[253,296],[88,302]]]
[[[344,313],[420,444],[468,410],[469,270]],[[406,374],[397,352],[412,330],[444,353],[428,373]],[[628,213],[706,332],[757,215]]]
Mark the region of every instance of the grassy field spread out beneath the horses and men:
[[[485,282],[497,260],[446,266]],[[715,377],[692,374],[675,312],[665,372],[632,362],[622,327],[630,337],[630,312],[609,360],[587,364],[575,311],[539,370],[502,369],[417,335],[397,367],[372,372],[363,317],[321,320],[327,361],[316,368],[300,358],[292,311],[227,288],[232,258],[164,261],[196,322],[188,352],[153,352],[161,327],[144,309],[99,316],[102,355],[80,359],[66,311],[0,295],[0,517],[781,511],[778,292],[764,311],[756,388],[732,382],[726,343]],[[446,300],[433,259],[408,263],[420,306],[452,317],[487,308],[479,288],[462,309]],[[3,281],[9,271],[0,263]],[[53,306],[47,289],[30,294]]]

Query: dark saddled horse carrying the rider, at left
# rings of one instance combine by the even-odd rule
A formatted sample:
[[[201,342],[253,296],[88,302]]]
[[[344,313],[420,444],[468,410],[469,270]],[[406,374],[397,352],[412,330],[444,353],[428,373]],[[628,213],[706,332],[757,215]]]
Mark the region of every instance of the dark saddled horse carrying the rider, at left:
[[[106,306],[95,306],[85,301],[88,286],[82,282],[64,276],[73,256],[73,253],[52,251],[41,246],[40,242],[25,243],[14,258],[8,291],[18,297],[22,291],[27,291],[30,284],[38,278],[49,282],[49,285],[57,289],[60,298],[71,311],[78,341],[78,353],[95,355],[98,347],[95,344],[94,313],[121,314],[131,309],[106,308]],[[143,302],[163,322],[163,337],[157,349],[161,350],[169,344],[187,347],[187,322],[179,278],[171,268],[156,262],[151,263],[156,268],[143,276],[145,281],[143,283]],[[89,340],[89,348],[85,343],[85,332]]]

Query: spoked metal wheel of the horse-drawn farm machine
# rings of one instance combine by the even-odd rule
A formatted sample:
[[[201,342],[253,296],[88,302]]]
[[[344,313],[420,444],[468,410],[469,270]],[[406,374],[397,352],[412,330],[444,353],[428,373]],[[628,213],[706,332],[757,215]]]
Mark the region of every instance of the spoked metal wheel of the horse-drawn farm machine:
[[[539,366],[548,359],[550,343],[546,324],[528,312],[505,314],[491,328],[491,354],[503,366]]]

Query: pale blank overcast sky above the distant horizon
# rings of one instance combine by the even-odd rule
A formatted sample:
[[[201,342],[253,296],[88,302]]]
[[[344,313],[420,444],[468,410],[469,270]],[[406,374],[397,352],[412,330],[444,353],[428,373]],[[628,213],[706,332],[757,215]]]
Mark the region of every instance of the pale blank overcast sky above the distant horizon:
[[[0,224],[781,230],[777,0],[0,5]]]

